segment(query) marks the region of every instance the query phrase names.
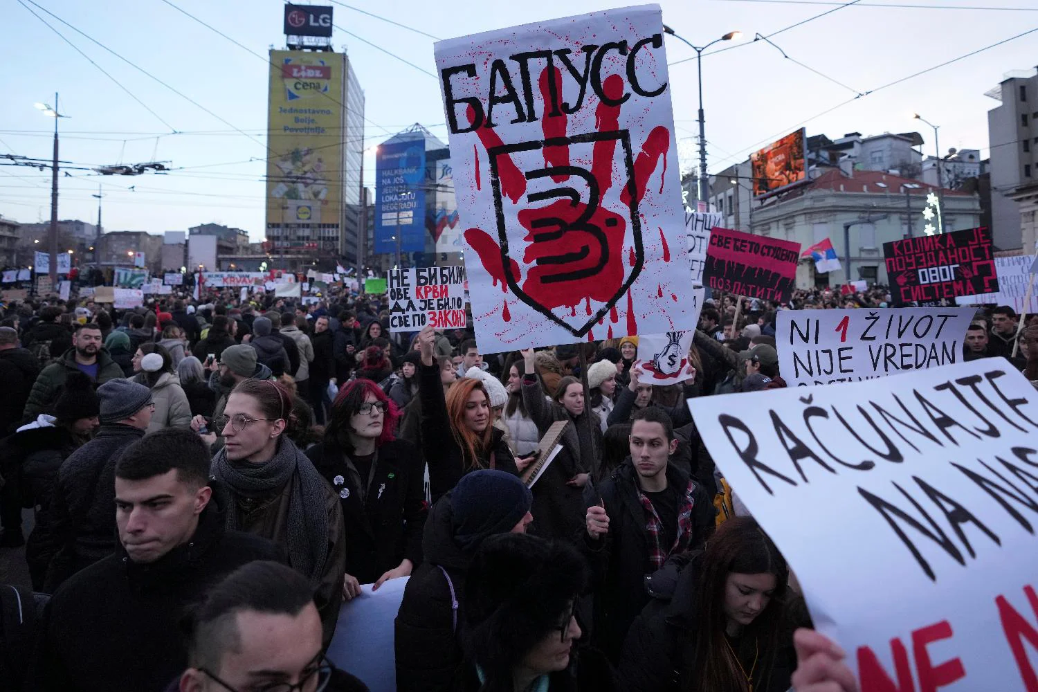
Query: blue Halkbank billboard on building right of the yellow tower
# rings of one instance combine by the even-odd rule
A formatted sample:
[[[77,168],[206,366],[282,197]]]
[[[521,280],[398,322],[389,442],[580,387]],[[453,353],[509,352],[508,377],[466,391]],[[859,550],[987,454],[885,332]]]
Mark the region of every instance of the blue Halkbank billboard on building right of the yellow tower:
[[[417,134],[381,144],[375,155],[375,252],[421,252],[426,249],[426,138]]]

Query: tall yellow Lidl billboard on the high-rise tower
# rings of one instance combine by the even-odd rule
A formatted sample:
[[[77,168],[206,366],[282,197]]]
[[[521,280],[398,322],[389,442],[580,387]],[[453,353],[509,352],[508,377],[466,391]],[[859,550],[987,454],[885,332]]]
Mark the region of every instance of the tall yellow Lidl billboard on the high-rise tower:
[[[267,225],[339,224],[343,56],[270,52]],[[276,245],[276,242],[275,242]]]

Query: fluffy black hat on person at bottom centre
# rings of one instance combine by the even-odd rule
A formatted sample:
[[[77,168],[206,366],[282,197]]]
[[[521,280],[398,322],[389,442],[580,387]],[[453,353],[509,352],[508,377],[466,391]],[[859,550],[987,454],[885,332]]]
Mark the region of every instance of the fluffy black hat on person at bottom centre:
[[[465,581],[465,654],[487,683],[512,669],[545,635],[559,632],[588,583],[583,557],[567,543],[525,533],[483,542]]]

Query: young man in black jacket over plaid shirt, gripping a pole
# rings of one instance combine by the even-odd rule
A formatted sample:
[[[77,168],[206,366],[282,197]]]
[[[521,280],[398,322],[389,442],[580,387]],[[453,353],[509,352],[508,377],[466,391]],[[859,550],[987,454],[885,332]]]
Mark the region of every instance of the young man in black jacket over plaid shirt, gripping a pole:
[[[595,644],[616,663],[627,629],[649,602],[646,581],[671,555],[702,547],[714,526],[706,492],[667,458],[678,447],[655,407],[631,423],[631,455],[588,508],[583,545],[595,573]]]

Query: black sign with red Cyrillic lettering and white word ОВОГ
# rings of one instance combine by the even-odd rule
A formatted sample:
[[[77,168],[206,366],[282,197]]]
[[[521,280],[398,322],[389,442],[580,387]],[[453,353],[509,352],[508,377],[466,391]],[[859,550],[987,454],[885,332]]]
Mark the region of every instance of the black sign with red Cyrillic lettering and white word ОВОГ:
[[[883,243],[883,257],[895,305],[999,290],[987,228]]]

